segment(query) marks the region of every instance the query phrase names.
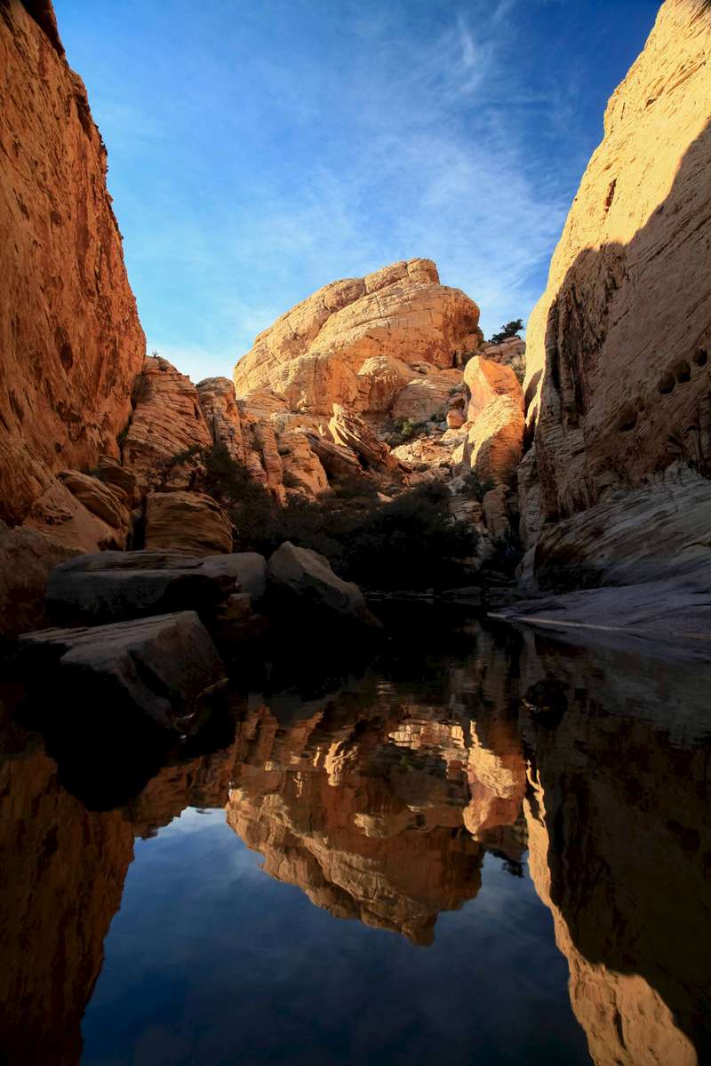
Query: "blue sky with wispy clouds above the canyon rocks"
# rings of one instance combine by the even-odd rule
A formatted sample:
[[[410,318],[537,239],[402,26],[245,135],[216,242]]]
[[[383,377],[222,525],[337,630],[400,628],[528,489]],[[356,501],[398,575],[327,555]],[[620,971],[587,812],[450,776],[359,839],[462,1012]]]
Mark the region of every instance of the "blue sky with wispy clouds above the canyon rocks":
[[[198,381],[314,289],[434,259],[528,317],[657,0],[55,0],[148,349]]]

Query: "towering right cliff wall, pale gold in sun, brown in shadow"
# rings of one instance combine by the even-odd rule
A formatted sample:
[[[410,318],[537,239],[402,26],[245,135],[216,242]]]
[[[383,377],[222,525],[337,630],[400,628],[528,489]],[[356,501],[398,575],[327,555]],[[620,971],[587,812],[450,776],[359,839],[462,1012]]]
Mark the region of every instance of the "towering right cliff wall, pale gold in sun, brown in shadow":
[[[544,522],[570,519],[568,549],[593,549],[601,530],[619,528],[621,550],[633,551],[655,538],[655,495],[663,501],[667,486],[628,542],[625,494],[675,463],[698,481],[684,530],[657,539],[660,563],[705,535],[711,484],[700,505],[695,495],[711,471],[710,49],[708,3],[666,0],[608,106],[527,330],[529,544],[539,536],[533,501]],[[593,507],[579,528],[575,516]]]

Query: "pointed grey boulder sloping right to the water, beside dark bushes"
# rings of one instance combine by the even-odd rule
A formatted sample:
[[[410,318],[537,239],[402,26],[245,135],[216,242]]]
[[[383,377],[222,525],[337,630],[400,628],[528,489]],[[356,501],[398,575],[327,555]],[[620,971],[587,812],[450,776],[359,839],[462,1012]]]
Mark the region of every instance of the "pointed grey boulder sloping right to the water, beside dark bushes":
[[[378,627],[356,584],[339,578],[324,555],[285,542],[270,558],[269,592],[277,602],[323,625]]]

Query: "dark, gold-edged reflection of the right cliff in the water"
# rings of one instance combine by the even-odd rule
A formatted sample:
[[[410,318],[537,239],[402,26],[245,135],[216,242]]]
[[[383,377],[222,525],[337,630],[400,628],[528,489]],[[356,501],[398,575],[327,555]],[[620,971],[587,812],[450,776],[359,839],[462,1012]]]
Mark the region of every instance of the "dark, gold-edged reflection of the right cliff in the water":
[[[534,663],[567,685],[568,710],[554,729],[526,726],[524,810],[572,1008],[597,1066],[695,1066],[711,1050],[711,793],[708,743],[690,737],[709,678],[694,692],[688,672],[627,655],[597,659],[595,676],[588,657],[553,647],[539,642]],[[686,700],[683,723],[667,688]]]

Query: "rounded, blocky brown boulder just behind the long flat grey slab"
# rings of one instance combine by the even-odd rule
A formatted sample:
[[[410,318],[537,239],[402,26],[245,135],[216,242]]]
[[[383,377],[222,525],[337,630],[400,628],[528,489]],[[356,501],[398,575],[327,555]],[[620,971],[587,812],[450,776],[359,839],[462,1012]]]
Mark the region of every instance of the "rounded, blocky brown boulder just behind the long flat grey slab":
[[[228,552],[232,527],[220,504],[204,492],[150,492],[146,497],[145,547],[192,555]]]

